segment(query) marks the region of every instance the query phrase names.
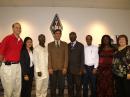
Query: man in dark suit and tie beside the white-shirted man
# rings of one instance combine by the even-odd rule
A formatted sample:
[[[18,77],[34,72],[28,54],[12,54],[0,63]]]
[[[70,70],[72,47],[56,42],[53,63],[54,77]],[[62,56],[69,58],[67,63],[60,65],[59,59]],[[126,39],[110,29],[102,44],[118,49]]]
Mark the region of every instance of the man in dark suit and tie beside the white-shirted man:
[[[84,46],[76,41],[76,33],[69,34],[70,43],[68,44],[68,95],[69,97],[81,97],[81,75],[84,65]],[[75,90],[76,89],[76,90]],[[74,93],[76,91],[76,95]]]

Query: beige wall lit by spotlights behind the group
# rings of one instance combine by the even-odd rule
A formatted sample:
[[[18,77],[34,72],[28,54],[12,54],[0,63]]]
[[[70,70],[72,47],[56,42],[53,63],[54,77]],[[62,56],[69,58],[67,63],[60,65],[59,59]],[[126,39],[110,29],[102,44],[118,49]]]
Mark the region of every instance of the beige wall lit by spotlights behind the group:
[[[93,43],[100,44],[102,35],[130,36],[130,10],[65,8],[65,7],[0,7],[0,41],[11,33],[11,25],[20,22],[21,37],[31,36],[34,45],[40,33],[46,35],[47,43],[53,40],[49,30],[55,13],[63,24],[62,40],[69,42],[69,33],[75,31],[78,40],[85,44],[85,36],[91,34]],[[130,40],[129,40],[130,43]]]

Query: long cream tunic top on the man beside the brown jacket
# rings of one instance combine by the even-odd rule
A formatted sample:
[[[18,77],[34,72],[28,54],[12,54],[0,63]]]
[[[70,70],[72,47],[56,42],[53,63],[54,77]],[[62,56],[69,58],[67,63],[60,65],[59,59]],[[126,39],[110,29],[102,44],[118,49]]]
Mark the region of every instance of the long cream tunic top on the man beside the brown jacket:
[[[34,70],[36,78],[47,78],[48,77],[48,51],[46,47],[40,45],[34,48]],[[37,72],[42,72],[42,76],[38,77]]]

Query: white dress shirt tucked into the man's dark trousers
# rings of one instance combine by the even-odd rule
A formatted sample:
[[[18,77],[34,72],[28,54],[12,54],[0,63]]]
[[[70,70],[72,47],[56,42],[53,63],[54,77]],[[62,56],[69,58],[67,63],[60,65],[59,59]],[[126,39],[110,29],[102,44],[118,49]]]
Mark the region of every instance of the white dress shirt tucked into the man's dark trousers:
[[[92,66],[94,65],[94,68],[98,67],[99,62],[99,55],[98,55],[98,47],[94,45],[86,45],[84,47],[84,53],[85,53],[85,65]]]

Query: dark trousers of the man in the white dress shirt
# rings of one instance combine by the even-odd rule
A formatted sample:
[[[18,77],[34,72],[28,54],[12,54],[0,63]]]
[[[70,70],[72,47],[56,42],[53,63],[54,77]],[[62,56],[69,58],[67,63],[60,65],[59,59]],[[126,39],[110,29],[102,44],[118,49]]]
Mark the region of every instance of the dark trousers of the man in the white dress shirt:
[[[93,66],[85,66],[83,75],[83,97],[88,97],[88,85],[91,85],[91,97],[96,97],[96,76],[92,74]]]

